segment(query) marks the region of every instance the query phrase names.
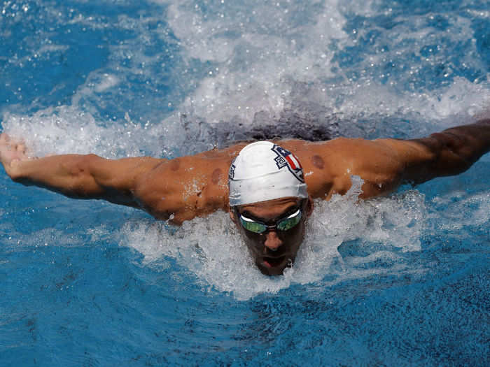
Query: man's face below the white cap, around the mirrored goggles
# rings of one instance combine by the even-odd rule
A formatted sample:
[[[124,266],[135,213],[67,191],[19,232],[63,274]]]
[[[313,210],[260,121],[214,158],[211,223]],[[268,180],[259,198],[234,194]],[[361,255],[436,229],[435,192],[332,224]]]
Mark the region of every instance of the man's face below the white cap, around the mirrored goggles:
[[[293,264],[304,238],[305,223],[311,215],[312,204],[311,199],[288,197],[230,209],[230,217],[237,224],[255,264],[262,273],[280,275],[285,268]],[[295,226],[284,231],[279,229],[281,225],[279,228],[270,228],[282,220],[294,220],[298,210],[300,221]],[[260,222],[268,228],[263,233],[249,231],[241,224],[240,216],[242,220]]]

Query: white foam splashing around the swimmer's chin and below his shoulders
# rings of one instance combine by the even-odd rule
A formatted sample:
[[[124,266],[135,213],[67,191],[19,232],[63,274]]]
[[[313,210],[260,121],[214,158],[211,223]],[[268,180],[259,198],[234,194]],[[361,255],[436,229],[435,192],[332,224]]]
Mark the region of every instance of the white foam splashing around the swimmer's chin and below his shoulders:
[[[316,201],[296,264],[279,277],[269,278],[258,271],[228,214],[223,212],[184,222],[175,233],[162,222],[128,222],[122,229],[122,245],[144,254],[148,266],[168,266],[165,259],[176,259],[195,273],[204,287],[229,292],[238,299],[276,293],[291,284],[316,282],[326,275],[333,278],[328,284],[335,284],[373,274],[420,271],[397,261],[400,255],[393,252],[393,247],[402,252],[420,250],[419,238],[425,230],[426,217],[423,195],[409,192],[358,202],[360,185],[362,180],[354,178],[354,185],[345,196],[334,196],[329,202]],[[358,240],[361,247],[367,248],[375,243],[379,250],[365,257],[343,259],[337,248],[350,240]],[[360,266],[380,259],[393,264],[371,269]],[[338,268],[337,263],[342,266]]]

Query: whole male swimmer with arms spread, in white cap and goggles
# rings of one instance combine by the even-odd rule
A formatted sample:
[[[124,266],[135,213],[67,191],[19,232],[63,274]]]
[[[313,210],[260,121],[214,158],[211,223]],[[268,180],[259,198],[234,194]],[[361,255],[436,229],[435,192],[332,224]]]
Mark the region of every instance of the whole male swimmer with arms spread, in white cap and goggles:
[[[345,194],[351,175],[363,179],[360,198],[369,199],[462,173],[489,150],[490,119],[412,140],[260,141],[175,159],[31,158],[20,141],[0,136],[0,161],[23,185],[132,206],[174,224],[227,211],[266,275],[293,265],[313,199]]]

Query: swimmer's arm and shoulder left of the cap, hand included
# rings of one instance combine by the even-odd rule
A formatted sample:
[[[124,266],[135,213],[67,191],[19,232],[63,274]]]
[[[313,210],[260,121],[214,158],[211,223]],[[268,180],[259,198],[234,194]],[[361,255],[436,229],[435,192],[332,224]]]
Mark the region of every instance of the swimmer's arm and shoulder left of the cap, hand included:
[[[95,154],[29,158],[25,146],[0,136],[0,161],[23,185],[74,199],[104,199],[181,224],[228,208],[227,172],[243,145],[176,159],[104,159]]]

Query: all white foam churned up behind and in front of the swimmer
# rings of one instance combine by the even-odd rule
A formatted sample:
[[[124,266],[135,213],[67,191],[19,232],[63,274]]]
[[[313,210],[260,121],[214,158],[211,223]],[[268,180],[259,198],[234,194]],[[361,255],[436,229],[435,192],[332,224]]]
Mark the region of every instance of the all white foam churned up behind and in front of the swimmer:
[[[355,29],[364,34],[353,35],[346,33],[344,14],[372,17],[379,14],[377,1],[289,0],[277,6],[277,1],[225,0],[208,3],[206,10],[190,0],[155,2],[168,5],[167,11],[141,13],[139,17],[121,15],[116,24],[90,15],[80,14],[71,20],[66,14],[60,17],[60,24],[115,27],[116,31],[129,31],[125,33],[134,34],[134,38],[128,36],[111,45],[108,63],[87,75],[69,106],[50,106],[29,114],[22,113],[21,106],[10,106],[3,112],[3,129],[25,138],[33,155],[94,152],[109,158],[142,154],[174,157],[213,146],[203,120],[227,122],[230,129],[240,129],[240,123],[251,124],[259,112],[265,112],[273,123],[290,109],[311,115],[314,122],[327,114],[342,117],[349,122],[339,127],[345,135],[366,136],[374,131],[386,136],[398,129],[423,135],[469,121],[490,104],[488,73],[474,81],[453,78],[447,62],[451,50],[422,55],[426,46],[448,44],[444,41],[447,37],[451,44],[470,40],[466,67],[487,69],[476,50],[470,20],[458,13],[447,15],[449,31],[438,31],[416,15],[394,19],[393,27]],[[49,11],[57,19],[57,9]],[[484,19],[485,14],[473,15]],[[152,22],[168,22],[170,28],[152,30],[147,27]],[[339,51],[358,45],[360,36],[371,30],[379,31],[379,38],[363,51],[362,59],[343,66],[332,61]],[[155,38],[168,43],[169,50],[149,56],[147,51]],[[46,42],[9,63],[22,66],[29,57],[66,51],[66,45]],[[384,50],[383,45],[389,47]],[[412,54],[421,57],[419,61]],[[165,63],[176,59],[178,67],[167,71]],[[407,67],[393,75],[379,75],[379,69],[389,62],[395,66],[406,63]],[[419,75],[424,66],[437,65],[447,68],[447,83],[425,88],[412,85],[424,78]],[[133,79],[147,86],[144,93],[141,85],[132,88]],[[162,92],[157,86],[167,80],[171,80],[169,92]],[[173,103],[175,109],[162,112],[162,99],[166,99],[165,106]],[[33,103],[31,110],[36,110],[36,101]],[[399,125],[393,126],[388,122],[390,126],[386,126],[384,122],[386,117],[404,116],[410,117],[409,124],[395,122]],[[486,159],[489,157],[487,154]],[[295,267],[278,278],[265,277],[251,264],[225,213],[186,222],[174,234],[153,220],[128,222],[121,231],[121,244],[144,254],[148,266],[165,266],[166,259],[176,259],[204,285],[237,298],[250,298],[261,292],[278,292],[291,283],[315,282],[325,275],[333,279],[325,284],[334,284],[375,273],[421,271],[405,267],[399,259],[404,252],[420,249],[423,233],[432,230],[426,228],[427,217],[455,229],[489,221],[490,203],[485,194],[463,196],[456,205],[450,195],[437,197],[430,205],[440,202],[454,210],[428,215],[419,192],[358,203],[356,187],[358,183],[347,196],[316,203]],[[466,208],[475,206],[468,213]],[[94,233],[94,240],[103,236],[105,230],[100,231],[102,234]],[[64,233],[51,235],[63,237]],[[51,235],[43,231],[19,235],[17,240],[37,243],[39,237],[48,243]],[[371,251],[367,256],[342,257],[338,247],[349,241]],[[379,249],[372,250],[373,244],[379,244]],[[392,265],[363,269],[377,260]]]

